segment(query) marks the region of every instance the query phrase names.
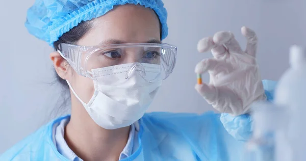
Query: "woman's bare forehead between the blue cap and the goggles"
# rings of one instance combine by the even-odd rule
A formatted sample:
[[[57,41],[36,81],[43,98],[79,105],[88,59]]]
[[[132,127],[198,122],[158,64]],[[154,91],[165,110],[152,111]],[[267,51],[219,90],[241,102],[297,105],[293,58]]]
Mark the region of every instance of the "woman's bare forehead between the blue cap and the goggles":
[[[154,10],[140,5],[117,6],[92,20],[92,28],[79,45],[98,45],[108,40],[126,43],[160,40],[160,22]]]

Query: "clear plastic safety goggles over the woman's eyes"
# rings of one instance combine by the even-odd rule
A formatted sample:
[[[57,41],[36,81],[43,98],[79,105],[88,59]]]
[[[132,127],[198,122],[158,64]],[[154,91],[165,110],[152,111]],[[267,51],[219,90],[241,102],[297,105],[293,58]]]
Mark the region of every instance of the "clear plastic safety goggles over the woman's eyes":
[[[61,43],[61,56],[79,75],[92,78],[92,71],[122,64],[132,64],[131,72],[139,66],[159,67],[159,77],[166,79],[173,71],[176,62],[176,47],[161,43],[129,43],[99,46],[81,46]],[[134,65],[133,65],[134,64]],[[146,72],[146,71],[143,71]],[[152,80],[147,80],[152,81]]]

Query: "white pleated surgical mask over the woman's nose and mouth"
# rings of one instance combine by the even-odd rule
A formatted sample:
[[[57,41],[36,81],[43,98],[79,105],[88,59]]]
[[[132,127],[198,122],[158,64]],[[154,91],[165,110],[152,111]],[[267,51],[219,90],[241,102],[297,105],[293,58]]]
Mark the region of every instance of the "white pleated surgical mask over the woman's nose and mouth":
[[[95,91],[88,103],[82,101],[67,83],[96,124],[116,129],[130,126],[144,115],[161,86],[160,70],[160,65],[143,63],[93,69]],[[150,83],[144,77],[157,77],[159,81]]]

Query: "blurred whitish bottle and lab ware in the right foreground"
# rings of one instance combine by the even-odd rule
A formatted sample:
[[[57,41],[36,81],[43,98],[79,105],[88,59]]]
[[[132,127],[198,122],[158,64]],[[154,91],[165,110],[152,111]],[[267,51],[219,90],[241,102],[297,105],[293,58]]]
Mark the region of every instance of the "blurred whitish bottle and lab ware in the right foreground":
[[[252,105],[254,133],[245,160],[306,160],[306,51],[294,45],[289,58],[290,68],[277,84],[274,102]]]

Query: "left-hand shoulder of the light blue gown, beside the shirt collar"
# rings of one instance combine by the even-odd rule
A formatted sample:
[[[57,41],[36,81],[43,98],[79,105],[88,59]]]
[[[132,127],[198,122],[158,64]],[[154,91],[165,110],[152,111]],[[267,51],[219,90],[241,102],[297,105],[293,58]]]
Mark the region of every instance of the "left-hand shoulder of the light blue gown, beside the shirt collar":
[[[0,156],[0,160],[41,160],[46,154],[49,156],[57,155],[56,146],[52,139],[52,126],[61,119],[63,117],[49,122],[15,144]]]

